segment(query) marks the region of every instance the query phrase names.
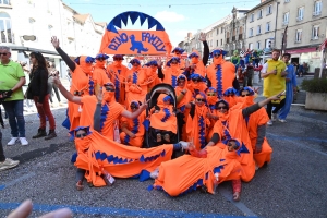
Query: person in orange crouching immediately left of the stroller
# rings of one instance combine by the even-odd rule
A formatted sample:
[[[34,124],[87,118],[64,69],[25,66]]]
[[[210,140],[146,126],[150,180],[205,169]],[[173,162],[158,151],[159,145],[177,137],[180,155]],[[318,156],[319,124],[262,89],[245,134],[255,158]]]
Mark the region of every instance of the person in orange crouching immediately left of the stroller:
[[[135,112],[141,106],[141,102],[132,101],[130,111]],[[137,118],[131,120],[126,118],[121,119],[120,141],[122,144],[135,147],[142,147],[145,129],[143,122],[145,120],[145,112],[143,111]]]

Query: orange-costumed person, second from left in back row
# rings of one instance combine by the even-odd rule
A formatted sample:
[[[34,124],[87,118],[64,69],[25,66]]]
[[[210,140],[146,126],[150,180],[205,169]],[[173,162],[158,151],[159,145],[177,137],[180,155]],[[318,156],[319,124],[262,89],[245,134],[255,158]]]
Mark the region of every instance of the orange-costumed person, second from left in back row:
[[[108,73],[106,71],[105,64],[106,60],[109,58],[109,56],[105,53],[98,53],[96,56],[96,64],[93,70],[93,80],[96,85],[99,87],[104,86],[104,84],[109,83],[110,78],[108,76]]]

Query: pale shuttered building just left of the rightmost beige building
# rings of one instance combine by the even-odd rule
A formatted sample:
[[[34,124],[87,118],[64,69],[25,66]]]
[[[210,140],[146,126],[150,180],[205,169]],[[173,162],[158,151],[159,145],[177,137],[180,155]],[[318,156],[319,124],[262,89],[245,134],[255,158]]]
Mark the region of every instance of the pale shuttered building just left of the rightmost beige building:
[[[275,45],[278,11],[276,0],[265,0],[246,13],[245,50],[269,52]]]

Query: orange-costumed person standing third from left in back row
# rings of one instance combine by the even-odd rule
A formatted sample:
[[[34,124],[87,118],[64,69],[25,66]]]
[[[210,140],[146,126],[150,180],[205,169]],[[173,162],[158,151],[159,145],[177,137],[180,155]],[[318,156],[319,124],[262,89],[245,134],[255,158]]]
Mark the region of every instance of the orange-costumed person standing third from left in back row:
[[[117,102],[125,102],[125,85],[129,69],[122,64],[123,56],[114,55],[113,63],[107,66],[107,73],[110,81],[114,84],[114,98]]]

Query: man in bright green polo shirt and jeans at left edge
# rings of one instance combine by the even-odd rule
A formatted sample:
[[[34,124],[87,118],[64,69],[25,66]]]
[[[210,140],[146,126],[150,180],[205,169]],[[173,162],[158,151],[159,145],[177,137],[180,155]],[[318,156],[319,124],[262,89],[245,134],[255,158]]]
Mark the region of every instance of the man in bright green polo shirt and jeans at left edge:
[[[25,119],[23,114],[25,74],[20,63],[10,60],[11,51],[7,46],[0,46],[0,90],[4,90],[2,105],[8,113],[12,138],[7,145],[14,145],[19,140],[22,145],[28,145],[25,137]]]

